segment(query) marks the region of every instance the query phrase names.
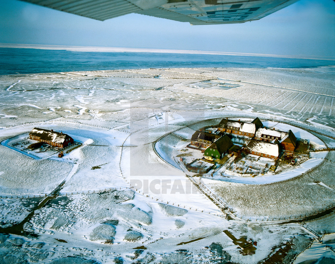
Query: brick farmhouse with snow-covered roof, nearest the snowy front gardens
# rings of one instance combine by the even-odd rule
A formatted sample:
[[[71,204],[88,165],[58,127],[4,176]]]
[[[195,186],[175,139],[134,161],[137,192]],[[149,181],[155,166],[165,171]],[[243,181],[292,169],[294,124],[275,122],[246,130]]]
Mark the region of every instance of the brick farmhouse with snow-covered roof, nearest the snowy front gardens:
[[[252,155],[261,156],[270,159],[278,159],[280,154],[279,142],[276,143],[251,140],[247,145],[248,152]]]

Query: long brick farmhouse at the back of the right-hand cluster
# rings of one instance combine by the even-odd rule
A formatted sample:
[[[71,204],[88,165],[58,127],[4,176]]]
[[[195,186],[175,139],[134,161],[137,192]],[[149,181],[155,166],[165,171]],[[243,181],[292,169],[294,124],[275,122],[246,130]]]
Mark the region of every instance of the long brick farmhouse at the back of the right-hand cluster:
[[[263,124],[261,120],[256,117],[252,122],[243,122],[230,120],[228,118],[223,118],[218,125],[218,130],[220,133],[230,133],[238,136],[246,136],[253,138],[255,136],[256,130],[262,127]]]

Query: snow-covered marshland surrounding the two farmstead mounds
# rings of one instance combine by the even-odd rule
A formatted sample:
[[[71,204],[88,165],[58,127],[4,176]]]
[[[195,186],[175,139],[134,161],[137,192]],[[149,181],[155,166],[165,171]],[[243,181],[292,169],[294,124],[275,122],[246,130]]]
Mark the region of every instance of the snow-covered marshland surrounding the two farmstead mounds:
[[[42,127],[83,145],[41,160],[0,146],[0,263],[334,261],[334,212],[292,217],[334,206],[334,151],[264,177],[201,178],[234,209],[228,217],[175,158],[201,158],[181,152],[183,140],[223,117],[257,116],[335,147],[334,77],[334,67],[1,76],[0,141]],[[257,242],[255,254],[223,230]]]

